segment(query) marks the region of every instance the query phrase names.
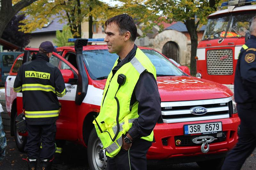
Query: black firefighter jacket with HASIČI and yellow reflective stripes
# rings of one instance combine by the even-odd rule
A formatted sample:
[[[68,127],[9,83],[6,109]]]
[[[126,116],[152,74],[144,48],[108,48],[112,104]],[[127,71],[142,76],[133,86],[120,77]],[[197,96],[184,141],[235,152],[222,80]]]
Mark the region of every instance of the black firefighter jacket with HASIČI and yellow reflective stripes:
[[[24,63],[19,68],[13,88],[16,92],[22,91],[23,109],[28,124],[52,124],[57,120],[57,96],[64,96],[66,88],[60,70],[49,63],[47,55],[37,53],[33,61]],[[53,110],[55,113],[52,114]],[[27,117],[29,112],[36,116]]]

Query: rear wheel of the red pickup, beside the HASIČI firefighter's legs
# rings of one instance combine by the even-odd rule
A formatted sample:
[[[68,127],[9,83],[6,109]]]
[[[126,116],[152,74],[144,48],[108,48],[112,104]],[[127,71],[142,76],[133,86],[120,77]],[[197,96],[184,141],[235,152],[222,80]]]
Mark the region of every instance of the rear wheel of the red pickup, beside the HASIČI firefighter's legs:
[[[13,132],[14,132],[14,138],[16,142],[16,146],[20,152],[25,152],[24,147],[27,143],[27,136],[20,136],[17,129],[16,129],[16,117],[17,117],[17,112],[15,114],[15,117],[13,119]]]

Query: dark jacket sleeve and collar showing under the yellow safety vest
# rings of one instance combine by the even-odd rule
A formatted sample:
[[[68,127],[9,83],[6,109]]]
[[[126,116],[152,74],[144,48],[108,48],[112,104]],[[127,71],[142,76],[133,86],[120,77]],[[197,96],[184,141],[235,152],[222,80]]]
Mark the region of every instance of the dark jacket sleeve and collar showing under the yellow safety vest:
[[[133,49],[122,61],[120,58],[118,59],[118,64],[112,70],[113,75],[120,67],[132,60],[136,54],[137,48],[138,47],[134,44]],[[132,127],[128,131],[133,140],[150,135],[162,114],[161,98],[153,74],[144,72],[140,75],[132,94],[130,106],[136,101],[139,102],[139,117],[133,121]]]

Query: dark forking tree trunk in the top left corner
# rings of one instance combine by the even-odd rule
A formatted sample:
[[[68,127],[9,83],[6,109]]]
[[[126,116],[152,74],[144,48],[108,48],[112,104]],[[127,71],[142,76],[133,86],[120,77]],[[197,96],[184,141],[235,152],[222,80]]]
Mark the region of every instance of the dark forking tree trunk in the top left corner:
[[[2,37],[6,25],[11,21],[14,15],[16,15],[21,9],[27,7],[35,1],[36,0],[22,0],[15,5],[12,5],[12,0],[0,1],[0,37]]]

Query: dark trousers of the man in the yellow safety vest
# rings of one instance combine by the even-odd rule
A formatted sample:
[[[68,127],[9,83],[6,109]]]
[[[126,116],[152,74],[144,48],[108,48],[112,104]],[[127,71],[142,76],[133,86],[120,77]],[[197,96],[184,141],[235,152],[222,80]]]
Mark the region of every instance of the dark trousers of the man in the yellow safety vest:
[[[129,151],[121,148],[121,151],[114,157],[108,157],[107,170],[146,170],[146,153],[152,142],[137,139],[132,142]]]

